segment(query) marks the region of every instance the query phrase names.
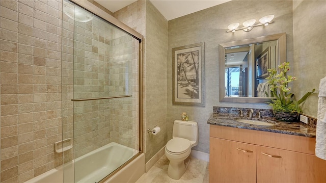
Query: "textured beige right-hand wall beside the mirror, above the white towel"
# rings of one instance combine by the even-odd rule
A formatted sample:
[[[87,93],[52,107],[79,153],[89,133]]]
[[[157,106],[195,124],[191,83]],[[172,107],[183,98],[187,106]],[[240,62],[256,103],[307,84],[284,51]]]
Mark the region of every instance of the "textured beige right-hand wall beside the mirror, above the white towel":
[[[303,113],[317,117],[318,88],[326,76],[326,1],[293,1],[294,91],[302,97],[313,88]]]

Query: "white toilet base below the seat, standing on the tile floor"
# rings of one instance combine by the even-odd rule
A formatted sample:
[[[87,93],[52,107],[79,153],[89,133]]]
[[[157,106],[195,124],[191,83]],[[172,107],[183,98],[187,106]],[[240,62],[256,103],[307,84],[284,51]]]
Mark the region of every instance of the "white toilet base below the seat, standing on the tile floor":
[[[180,162],[171,162],[169,163],[168,167],[168,175],[170,178],[173,178],[175,180],[179,180],[181,176],[184,174],[185,170],[187,169],[188,165],[190,163],[190,158],[188,157],[184,161]]]

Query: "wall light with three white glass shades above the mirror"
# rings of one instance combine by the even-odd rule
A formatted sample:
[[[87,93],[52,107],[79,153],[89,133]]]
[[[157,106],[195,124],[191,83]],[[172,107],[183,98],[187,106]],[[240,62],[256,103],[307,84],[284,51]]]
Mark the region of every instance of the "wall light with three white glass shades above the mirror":
[[[238,31],[238,30],[243,30],[243,31],[251,31],[254,27],[257,27],[259,25],[268,25],[269,23],[273,23],[273,18],[274,18],[274,15],[267,15],[267,16],[264,16],[262,18],[259,19],[259,22],[260,23],[256,23],[256,20],[255,19],[250,19],[250,20],[247,20],[247,21],[244,21],[242,23],[242,27],[238,28],[239,27],[239,23],[232,23],[228,26],[228,31],[227,33],[229,32],[235,32],[235,31]],[[256,24],[255,24],[256,23]]]

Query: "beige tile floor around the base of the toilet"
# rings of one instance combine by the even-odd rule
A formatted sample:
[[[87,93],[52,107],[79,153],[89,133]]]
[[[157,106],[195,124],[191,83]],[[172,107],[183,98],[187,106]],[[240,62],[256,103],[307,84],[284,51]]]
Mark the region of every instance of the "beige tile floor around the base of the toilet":
[[[163,155],[136,183],[186,182],[208,183],[208,162],[190,157],[191,161],[179,180],[168,176],[169,160]]]

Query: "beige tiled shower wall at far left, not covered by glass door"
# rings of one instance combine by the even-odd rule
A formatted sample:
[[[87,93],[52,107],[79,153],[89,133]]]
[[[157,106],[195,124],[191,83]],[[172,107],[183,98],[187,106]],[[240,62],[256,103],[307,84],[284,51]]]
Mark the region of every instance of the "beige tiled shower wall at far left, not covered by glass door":
[[[1,178],[24,182],[62,164],[61,1],[2,0]]]

